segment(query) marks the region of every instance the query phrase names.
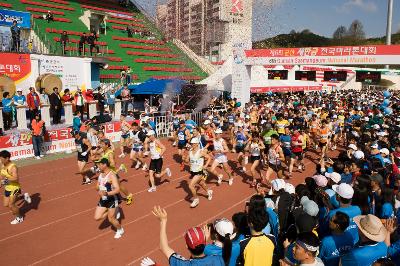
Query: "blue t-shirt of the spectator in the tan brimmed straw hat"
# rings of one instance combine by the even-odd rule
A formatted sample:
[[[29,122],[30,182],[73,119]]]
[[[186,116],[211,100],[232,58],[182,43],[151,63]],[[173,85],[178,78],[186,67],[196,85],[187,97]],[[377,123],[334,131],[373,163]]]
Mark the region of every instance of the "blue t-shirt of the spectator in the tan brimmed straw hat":
[[[386,258],[387,252],[384,242],[358,246],[342,257],[342,266],[369,266],[377,259]]]

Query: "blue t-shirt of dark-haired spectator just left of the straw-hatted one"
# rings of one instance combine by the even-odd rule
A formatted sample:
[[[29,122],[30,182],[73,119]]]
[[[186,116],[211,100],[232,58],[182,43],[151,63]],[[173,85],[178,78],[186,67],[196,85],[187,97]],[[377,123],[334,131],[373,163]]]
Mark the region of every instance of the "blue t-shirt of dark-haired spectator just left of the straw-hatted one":
[[[321,258],[325,266],[337,266],[340,257],[349,252],[353,246],[353,236],[348,232],[341,235],[326,236],[321,241],[318,257]]]

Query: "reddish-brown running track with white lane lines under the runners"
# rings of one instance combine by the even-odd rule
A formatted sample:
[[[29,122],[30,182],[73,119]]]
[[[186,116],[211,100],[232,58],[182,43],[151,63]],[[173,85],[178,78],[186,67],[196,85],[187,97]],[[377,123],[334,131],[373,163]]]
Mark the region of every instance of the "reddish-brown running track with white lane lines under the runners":
[[[125,234],[114,239],[114,231],[106,224],[93,219],[98,195],[94,183],[82,186],[76,174],[75,156],[38,163],[20,168],[23,191],[32,196],[32,204],[24,205],[25,221],[10,225],[11,214],[6,208],[0,211],[0,250],[2,265],[140,265],[144,256],[168,265],[159,250],[159,222],[152,215],[154,205],[168,212],[168,237],[171,247],[187,256],[183,240],[185,229],[203,225],[218,217],[231,218],[244,210],[245,201],[254,190],[244,183],[243,174],[236,174],[233,186],[223,182],[216,186],[212,201],[200,197],[200,205],[190,209],[187,180],[189,173],[180,172],[173,155],[176,148],[166,143],[164,166],[172,170],[169,183],[148,193],[147,177],[142,170],[129,169],[121,174],[124,183],[134,194],[134,203],[122,203],[122,226]],[[128,157],[128,156],[127,156]],[[118,159],[128,168],[128,158]],[[236,156],[231,154],[230,158]],[[308,157],[316,158],[314,153]],[[236,159],[235,159],[236,160]],[[315,163],[306,160],[306,172],[294,172],[293,184],[302,182],[315,171]],[[18,162],[17,162],[18,165]],[[249,170],[248,166],[248,170]],[[221,169],[218,169],[221,171]],[[248,171],[249,173],[249,171]],[[203,193],[201,191],[201,193]]]

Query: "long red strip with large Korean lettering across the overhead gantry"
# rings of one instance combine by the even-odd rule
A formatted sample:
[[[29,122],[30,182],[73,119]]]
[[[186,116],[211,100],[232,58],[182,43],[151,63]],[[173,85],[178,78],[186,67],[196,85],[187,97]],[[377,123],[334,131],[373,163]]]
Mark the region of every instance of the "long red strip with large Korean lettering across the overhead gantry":
[[[247,50],[247,57],[307,57],[307,56],[356,56],[399,55],[400,45],[332,46]]]

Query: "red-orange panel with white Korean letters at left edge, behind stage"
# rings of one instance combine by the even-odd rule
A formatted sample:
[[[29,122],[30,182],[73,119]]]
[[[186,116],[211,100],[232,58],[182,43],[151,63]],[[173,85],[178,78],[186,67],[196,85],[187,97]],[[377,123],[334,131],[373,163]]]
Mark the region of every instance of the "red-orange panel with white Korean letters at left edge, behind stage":
[[[1,54],[0,75],[10,77],[14,81],[22,80],[31,72],[29,54]]]

